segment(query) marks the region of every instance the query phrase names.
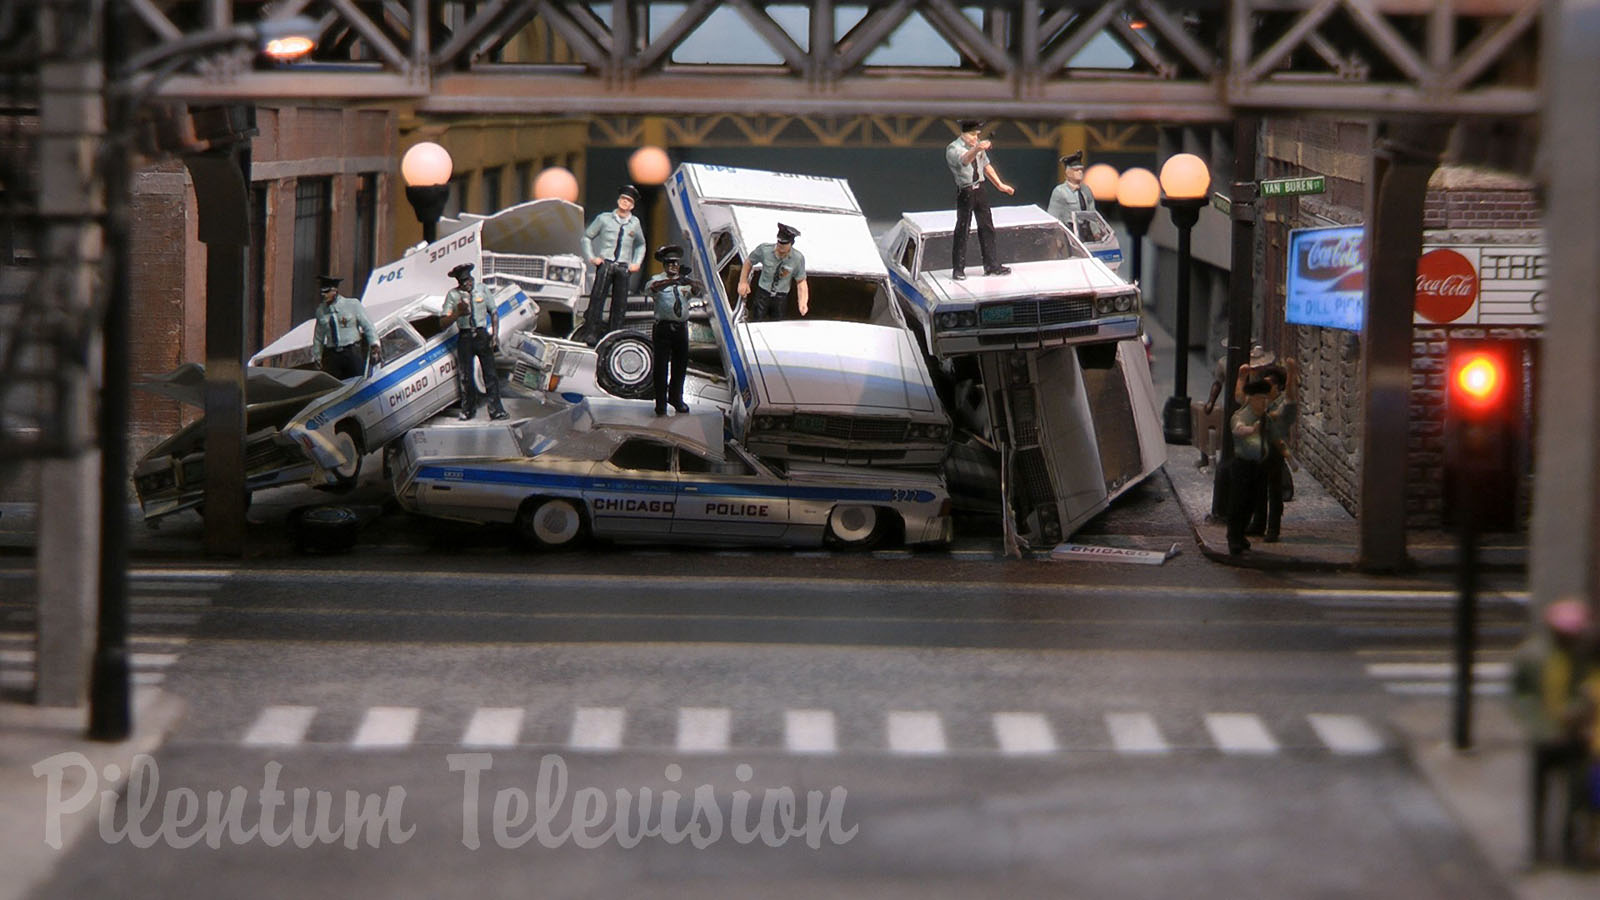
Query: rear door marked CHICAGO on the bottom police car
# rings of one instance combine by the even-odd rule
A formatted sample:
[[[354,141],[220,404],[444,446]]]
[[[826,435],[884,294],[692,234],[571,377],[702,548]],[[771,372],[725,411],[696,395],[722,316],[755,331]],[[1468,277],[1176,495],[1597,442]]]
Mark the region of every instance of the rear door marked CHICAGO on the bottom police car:
[[[672,445],[629,437],[590,472],[584,500],[597,535],[664,538],[672,533],[678,479]]]

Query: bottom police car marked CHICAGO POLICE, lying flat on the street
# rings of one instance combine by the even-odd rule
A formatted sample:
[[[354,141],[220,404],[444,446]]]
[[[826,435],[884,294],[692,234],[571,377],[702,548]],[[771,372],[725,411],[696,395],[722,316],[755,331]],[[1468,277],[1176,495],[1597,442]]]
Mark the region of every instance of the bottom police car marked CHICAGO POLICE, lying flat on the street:
[[[726,440],[722,413],[654,416],[648,404],[590,397],[539,420],[413,429],[394,487],[413,512],[514,524],[536,548],[587,536],[856,549],[950,540],[936,476],[778,466]]]

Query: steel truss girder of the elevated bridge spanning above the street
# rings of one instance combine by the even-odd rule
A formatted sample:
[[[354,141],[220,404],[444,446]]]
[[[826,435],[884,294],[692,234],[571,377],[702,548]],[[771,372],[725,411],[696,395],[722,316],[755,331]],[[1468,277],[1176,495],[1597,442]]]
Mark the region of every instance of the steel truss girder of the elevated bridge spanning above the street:
[[[114,2],[138,11],[146,34],[131,40],[146,43],[235,18],[320,22],[310,62],[213,61],[163,88],[184,98],[413,99],[424,114],[1147,122],[1243,110],[1520,117],[1539,102],[1539,0]],[[771,64],[682,61],[709,18],[720,11],[726,29],[726,10]],[[914,19],[952,64],[875,64]],[[1107,40],[1126,67],[1075,64]]]

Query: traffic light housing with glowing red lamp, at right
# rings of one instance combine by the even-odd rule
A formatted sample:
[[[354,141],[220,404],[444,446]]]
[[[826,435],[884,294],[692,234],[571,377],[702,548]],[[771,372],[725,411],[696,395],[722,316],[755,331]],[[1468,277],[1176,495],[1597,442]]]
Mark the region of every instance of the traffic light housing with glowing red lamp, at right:
[[[1502,346],[1451,346],[1445,396],[1445,520],[1517,527],[1520,376]]]

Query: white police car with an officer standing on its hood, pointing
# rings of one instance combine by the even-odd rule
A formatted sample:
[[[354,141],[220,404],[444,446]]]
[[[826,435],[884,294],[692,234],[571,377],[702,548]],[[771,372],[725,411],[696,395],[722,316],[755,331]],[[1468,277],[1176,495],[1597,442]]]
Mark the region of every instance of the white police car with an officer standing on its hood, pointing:
[[[906,315],[936,357],[1139,335],[1139,288],[1035,205],[994,210],[1006,275],[950,279],[955,210],[906,213],[878,243]],[[968,234],[978,240],[978,229]],[[968,248],[968,259],[978,248]]]

